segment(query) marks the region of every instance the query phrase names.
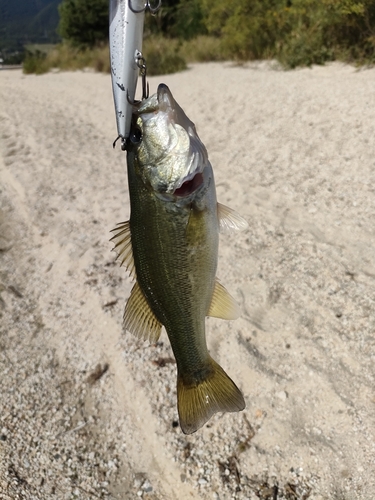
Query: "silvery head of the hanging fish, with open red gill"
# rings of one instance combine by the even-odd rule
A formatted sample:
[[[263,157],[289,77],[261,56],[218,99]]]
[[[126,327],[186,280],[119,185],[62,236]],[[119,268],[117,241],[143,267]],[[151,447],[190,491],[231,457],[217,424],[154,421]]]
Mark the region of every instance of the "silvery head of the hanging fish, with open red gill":
[[[137,173],[157,194],[186,197],[204,183],[207,150],[164,84],[135,109],[128,150]]]

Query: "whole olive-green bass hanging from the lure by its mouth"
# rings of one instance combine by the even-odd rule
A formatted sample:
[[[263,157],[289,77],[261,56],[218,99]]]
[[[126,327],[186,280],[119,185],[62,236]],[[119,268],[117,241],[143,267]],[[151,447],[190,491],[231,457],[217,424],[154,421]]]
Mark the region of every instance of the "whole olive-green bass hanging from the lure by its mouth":
[[[177,365],[180,427],[191,434],[244,397],[210,356],[205,319],[241,311],[216,278],[219,231],[247,222],[216,200],[213,169],[194,123],[165,84],[134,108],[127,146],[130,219],[113,230],[135,279],[124,326],[157,342],[165,327]]]

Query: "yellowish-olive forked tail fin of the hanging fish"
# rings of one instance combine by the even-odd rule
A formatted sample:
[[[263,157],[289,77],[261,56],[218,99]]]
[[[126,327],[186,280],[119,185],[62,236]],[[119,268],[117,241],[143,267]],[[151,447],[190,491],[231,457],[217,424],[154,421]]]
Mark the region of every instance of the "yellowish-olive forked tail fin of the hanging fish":
[[[182,376],[178,376],[178,413],[184,434],[197,431],[214,413],[245,408],[242,393],[233,380],[212,358],[209,363],[209,376],[198,383],[187,384]]]

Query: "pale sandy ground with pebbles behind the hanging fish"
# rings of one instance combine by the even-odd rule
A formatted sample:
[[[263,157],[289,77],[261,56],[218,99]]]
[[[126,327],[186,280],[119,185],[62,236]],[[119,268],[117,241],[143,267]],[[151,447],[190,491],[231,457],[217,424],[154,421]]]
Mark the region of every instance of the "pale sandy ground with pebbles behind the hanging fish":
[[[183,435],[166,334],[122,330],[110,77],[1,71],[0,498],[372,500],[375,70],[202,64],[162,81],[249,222],[219,251],[243,315],[207,320],[247,408]]]

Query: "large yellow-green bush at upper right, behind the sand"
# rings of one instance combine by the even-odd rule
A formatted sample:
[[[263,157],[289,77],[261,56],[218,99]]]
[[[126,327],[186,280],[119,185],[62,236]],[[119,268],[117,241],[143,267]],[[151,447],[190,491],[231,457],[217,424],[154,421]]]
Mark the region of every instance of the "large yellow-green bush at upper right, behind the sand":
[[[332,59],[375,62],[375,0],[202,0],[226,57],[287,67]]]

